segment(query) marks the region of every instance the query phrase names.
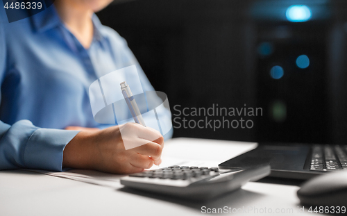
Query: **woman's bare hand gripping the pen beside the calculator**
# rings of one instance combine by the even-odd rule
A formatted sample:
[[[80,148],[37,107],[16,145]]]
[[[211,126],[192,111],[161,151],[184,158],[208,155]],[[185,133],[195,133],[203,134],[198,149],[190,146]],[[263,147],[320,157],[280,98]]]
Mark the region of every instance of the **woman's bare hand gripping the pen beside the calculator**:
[[[124,142],[142,145],[126,150]],[[116,174],[142,172],[161,163],[163,146],[158,131],[135,123],[81,131],[65,147],[62,165]]]

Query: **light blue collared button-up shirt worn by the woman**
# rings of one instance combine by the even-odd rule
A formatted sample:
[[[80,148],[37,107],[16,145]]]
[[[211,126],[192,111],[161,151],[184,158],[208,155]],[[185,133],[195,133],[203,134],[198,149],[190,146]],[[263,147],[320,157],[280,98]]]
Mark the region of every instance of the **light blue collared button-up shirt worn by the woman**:
[[[61,171],[63,149],[78,133],[61,129],[110,126],[93,119],[88,88],[97,78],[137,65],[138,88],[153,90],[124,38],[96,15],[94,38],[85,49],[54,6],[10,24],[2,3],[0,13],[0,169]]]

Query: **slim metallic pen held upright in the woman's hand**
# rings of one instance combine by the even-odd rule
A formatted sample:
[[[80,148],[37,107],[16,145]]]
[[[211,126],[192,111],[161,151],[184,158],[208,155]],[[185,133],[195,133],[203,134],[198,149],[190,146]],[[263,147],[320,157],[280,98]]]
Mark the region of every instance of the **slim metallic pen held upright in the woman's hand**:
[[[133,93],[131,93],[129,85],[126,83],[126,81],[121,82],[121,93],[124,96],[124,99],[126,100],[126,104],[128,104],[128,108],[130,110],[131,115],[133,115],[133,118],[137,124],[141,124],[142,126],[146,126],[144,124],[144,119],[142,118],[141,113],[139,112],[139,108],[137,107],[137,103],[133,97]]]

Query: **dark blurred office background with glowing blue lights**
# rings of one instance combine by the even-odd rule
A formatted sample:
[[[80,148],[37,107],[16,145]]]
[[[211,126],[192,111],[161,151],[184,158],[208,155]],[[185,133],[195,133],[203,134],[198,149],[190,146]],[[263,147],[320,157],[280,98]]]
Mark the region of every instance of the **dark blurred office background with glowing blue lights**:
[[[98,15],[126,38],[171,112],[263,108],[248,118],[252,129],[178,128],[174,137],[347,141],[346,0],[138,0]]]

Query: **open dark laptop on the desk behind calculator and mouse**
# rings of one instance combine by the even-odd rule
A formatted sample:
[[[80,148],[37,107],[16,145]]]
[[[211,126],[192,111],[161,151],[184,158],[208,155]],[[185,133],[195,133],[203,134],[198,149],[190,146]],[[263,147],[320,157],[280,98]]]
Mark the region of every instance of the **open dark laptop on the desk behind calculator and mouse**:
[[[272,177],[309,179],[347,170],[347,145],[260,143],[256,149],[219,164],[219,168],[249,167],[260,163],[269,163],[269,176]]]

